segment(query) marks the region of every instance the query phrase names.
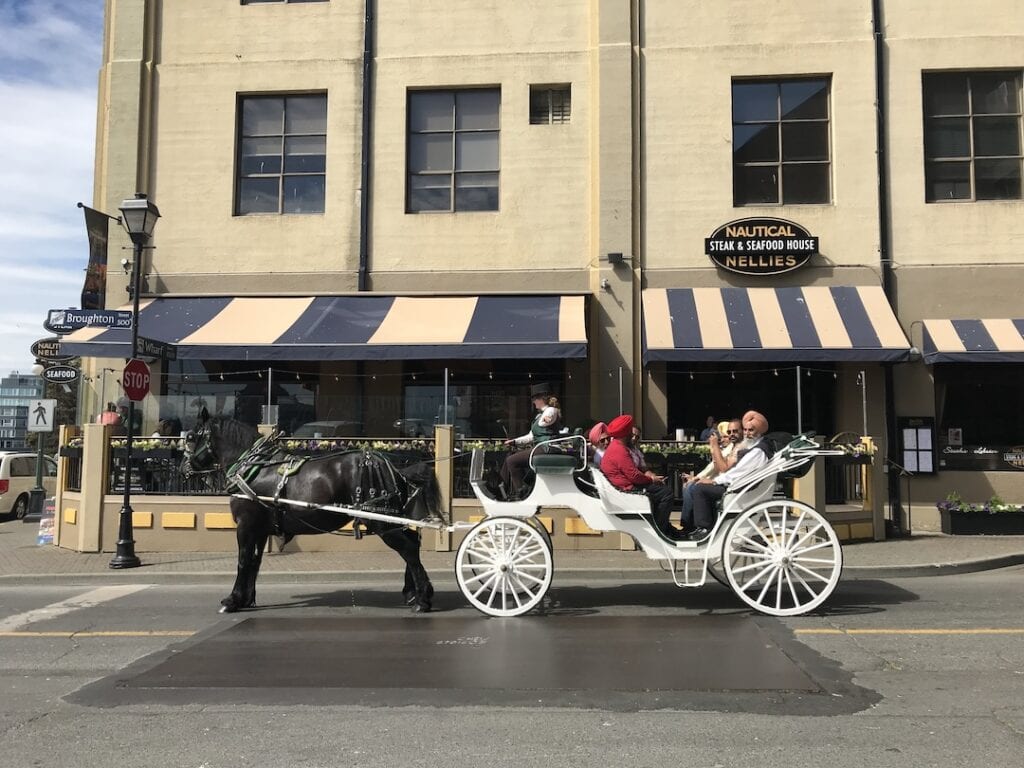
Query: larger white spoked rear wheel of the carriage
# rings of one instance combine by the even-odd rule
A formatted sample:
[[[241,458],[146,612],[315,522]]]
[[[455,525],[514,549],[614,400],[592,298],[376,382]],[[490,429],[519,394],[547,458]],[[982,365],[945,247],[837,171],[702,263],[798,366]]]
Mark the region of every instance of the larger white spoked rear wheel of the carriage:
[[[755,610],[795,616],[828,599],[843,550],[828,521],[806,504],[779,499],[741,513],[723,544],[729,586]]]

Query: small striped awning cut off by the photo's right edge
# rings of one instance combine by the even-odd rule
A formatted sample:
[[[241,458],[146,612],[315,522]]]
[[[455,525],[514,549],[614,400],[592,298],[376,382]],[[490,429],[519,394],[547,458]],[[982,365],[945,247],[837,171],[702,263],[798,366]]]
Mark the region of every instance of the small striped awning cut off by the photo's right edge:
[[[925,362],[1024,362],[1024,319],[927,319]]]

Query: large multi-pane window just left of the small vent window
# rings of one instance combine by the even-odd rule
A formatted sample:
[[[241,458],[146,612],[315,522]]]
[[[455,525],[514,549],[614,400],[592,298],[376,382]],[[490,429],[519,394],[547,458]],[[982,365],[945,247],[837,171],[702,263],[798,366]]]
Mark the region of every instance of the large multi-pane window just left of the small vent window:
[[[409,92],[409,213],[497,211],[501,90]]]

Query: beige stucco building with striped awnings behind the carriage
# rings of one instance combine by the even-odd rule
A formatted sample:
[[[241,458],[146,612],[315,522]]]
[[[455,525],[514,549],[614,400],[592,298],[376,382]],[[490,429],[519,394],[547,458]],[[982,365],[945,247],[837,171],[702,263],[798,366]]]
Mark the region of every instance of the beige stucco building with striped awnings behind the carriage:
[[[261,368],[370,435],[444,374],[468,434],[524,425],[537,377],[573,424],[622,408],[652,438],[756,407],[866,429],[915,470],[880,504],[934,528],[952,490],[1024,502],[1022,68],[1012,0],[108,0],[94,203],[160,207],[140,330],[196,312],[163,339],[179,416],[229,404],[225,374],[261,401]],[[715,240],[764,250],[736,271]],[[384,302],[352,321],[365,343],[299,319],[349,297]],[[551,338],[482,328],[497,297],[556,299]],[[296,324],[315,349],[288,347]]]

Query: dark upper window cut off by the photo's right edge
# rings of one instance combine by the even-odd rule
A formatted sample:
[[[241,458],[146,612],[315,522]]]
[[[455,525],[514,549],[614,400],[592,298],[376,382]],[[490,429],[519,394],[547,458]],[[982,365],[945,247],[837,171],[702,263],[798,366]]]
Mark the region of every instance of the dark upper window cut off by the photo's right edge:
[[[1021,199],[1021,73],[923,76],[925,196]]]

